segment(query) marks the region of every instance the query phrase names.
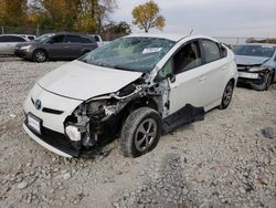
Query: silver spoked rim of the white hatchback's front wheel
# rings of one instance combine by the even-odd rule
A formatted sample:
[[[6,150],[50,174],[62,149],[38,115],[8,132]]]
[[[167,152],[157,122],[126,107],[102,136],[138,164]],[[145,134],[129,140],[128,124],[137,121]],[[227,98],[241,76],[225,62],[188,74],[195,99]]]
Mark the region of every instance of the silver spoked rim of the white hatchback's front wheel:
[[[139,152],[150,148],[157,136],[157,123],[153,118],[145,119],[137,128],[135,135],[135,147]]]

